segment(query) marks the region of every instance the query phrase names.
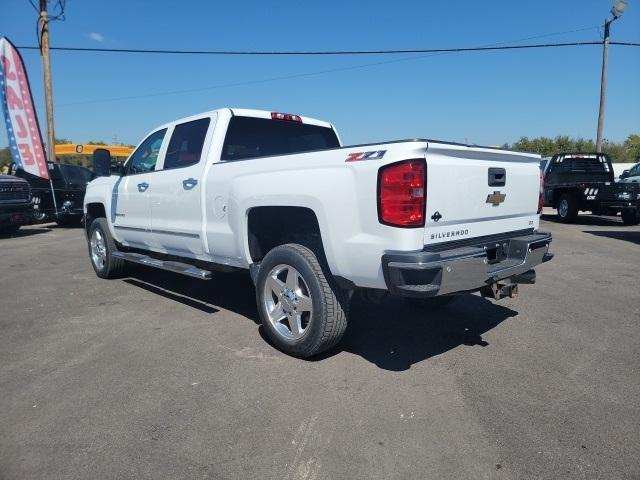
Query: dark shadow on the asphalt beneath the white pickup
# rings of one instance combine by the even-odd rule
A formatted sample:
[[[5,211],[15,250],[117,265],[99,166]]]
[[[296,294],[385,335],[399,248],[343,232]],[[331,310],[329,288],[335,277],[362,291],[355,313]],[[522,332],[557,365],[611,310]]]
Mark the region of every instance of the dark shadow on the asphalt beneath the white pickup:
[[[225,309],[260,325],[255,290],[245,272],[219,274],[207,282],[141,266],[131,273],[124,280],[130,285],[206,314]],[[342,342],[309,361],[349,352],[384,370],[408,370],[459,346],[486,347],[482,335],[517,314],[477,295],[464,295],[445,308],[427,311],[400,298],[389,297],[376,305],[355,294]],[[262,326],[259,333],[270,343]]]

